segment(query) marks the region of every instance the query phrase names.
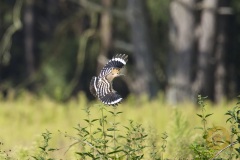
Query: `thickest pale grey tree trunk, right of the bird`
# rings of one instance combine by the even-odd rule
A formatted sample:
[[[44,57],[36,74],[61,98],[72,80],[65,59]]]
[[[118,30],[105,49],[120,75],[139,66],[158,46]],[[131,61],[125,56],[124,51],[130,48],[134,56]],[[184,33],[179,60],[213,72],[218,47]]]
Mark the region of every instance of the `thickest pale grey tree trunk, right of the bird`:
[[[167,101],[175,104],[192,99],[191,68],[194,54],[195,0],[170,3],[170,53],[168,63]]]

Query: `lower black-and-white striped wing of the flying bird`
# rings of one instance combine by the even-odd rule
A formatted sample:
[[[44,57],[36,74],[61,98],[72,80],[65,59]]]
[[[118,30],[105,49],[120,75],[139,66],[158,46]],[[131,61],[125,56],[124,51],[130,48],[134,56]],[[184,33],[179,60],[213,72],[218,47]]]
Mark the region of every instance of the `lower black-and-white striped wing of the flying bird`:
[[[105,77],[98,81],[97,96],[106,105],[114,106],[122,101],[122,97],[112,89],[112,84]]]

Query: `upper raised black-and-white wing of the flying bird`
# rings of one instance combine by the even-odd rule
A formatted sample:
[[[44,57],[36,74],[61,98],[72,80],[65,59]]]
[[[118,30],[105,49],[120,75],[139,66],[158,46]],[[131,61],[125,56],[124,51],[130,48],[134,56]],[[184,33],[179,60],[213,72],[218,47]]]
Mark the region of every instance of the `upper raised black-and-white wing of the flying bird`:
[[[113,68],[123,68],[128,61],[128,55],[126,54],[117,54],[101,70],[99,77],[105,77],[109,73],[111,73]]]

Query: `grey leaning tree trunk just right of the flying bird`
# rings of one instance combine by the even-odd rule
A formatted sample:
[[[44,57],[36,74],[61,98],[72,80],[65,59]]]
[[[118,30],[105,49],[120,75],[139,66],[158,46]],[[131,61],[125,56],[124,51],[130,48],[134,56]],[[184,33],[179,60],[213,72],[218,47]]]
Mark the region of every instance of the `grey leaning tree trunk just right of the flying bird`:
[[[147,8],[145,0],[128,0],[127,18],[131,28],[133,43],[133,59],[135,68],[131,80],[132,92],[136,95],[148,95],[150,98],[157,93],[157,84],[153,71],[152,48],[147,26]]]

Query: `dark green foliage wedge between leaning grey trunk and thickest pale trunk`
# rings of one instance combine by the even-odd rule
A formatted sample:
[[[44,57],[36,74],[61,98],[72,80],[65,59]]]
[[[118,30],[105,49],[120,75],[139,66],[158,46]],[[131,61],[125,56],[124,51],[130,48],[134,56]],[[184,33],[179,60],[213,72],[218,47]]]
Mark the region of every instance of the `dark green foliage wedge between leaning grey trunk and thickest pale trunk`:
[[[166,83],[167,52],[168,52],[168,25],[169,25],[169,0],[147,1],[150,34],[154,50],[154,70],[158,82],[163,86]]]

